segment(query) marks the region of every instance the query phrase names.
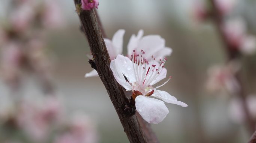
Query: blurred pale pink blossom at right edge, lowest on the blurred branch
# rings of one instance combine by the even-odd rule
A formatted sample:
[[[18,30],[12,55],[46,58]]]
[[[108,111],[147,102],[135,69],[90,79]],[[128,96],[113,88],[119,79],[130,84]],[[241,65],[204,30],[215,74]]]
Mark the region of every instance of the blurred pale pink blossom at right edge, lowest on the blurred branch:
[[[249,113],[254,120],[256,120],[256,95],[249,95],[246,98],[246,103],[249,108]],[[243,123],[246,121],[246,115],[244,113],[243,104],[241,99],[232,98],[229,103],[230,118],[234,123]]]

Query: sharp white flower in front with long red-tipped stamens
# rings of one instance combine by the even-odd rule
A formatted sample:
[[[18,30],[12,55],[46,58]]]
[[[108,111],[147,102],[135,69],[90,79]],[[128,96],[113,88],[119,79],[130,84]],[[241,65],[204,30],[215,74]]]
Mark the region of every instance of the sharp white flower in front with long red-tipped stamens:
[[[131,55],[132,60],[123,55],[118,55],[116,59],[111,61],[110,69],[120,85],[126,90],[132,90],[132,98],[135,100],[136,109],[141,117],[148,123],[157,124],[164,120],[169,113],[163,101],[182,107],[187,107],[188,105],[177,101],[174,96],[165,91],[156,90],[165,85],[170,78],[164,84],[156,86],[156,88],[152,87],[152,85],[166,77],[167,70],[164,68],[164,64],[167,58],[159,60],[160,63],[158,63],[152,56],[152,60],[147,62],[144,54],[143,50],[141,50],[140,54],[135,53],[134,50]],[[154,96],[163,101],[149,98],[148,96]]]

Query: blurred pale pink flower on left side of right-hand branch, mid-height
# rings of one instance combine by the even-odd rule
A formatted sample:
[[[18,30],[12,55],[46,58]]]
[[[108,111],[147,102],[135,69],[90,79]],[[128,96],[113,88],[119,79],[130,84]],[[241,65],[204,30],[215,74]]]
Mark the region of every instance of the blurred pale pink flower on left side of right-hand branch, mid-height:
[[[240,90],[240,85],[235,78],[235,74],[240,69],[240,64],[231,61],[226,66],[215,65],[208,69],[207,89],[210,91],[219,91],[226,89],[230,93],[236,93]]]

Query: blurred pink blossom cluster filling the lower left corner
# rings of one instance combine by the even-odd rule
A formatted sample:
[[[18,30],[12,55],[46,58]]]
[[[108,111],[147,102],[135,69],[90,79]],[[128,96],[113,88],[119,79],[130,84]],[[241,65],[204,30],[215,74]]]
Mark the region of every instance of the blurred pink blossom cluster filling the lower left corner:
[[[97,143],[95,124],[83,112],[67,117],[59,95],[40,96],[40,100],[22,98],[19,102],[4,100],[0,104],[0,128],[22,132],[23,139],[33,143]],[[12,136],[0,141],[16,142]]]

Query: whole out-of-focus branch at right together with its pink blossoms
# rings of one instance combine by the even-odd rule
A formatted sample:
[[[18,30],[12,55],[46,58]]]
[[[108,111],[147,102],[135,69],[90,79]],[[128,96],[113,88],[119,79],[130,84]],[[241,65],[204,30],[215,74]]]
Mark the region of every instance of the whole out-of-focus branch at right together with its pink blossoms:
[[[241,101],[241,107],[246,117],[247,128],[250,133],[255,131],[255,119],[252,117],[247,103],[249,91],[246,88],[246,79],[241,71],[241,57],[250,55],[256,49],[256,37],[246,33],[246,24],[241,18],[228,18],[234,9],[236,0],[208,0],[205,6],[198,7],[197,18],[201,20],[210,19],[216,26],[220,39],[224,44],[228,57],[226,67],[211,71],[220,85],[228,90],[233,96],[238,96]],[[213,69],[212,69],[213,70]],[[213,80],[211,80],[213,81]],[[214,84],[210,84],[210,88]],[[218,85],[219,86],[219,85]]]

